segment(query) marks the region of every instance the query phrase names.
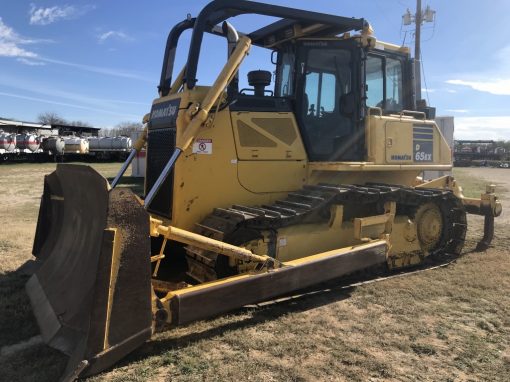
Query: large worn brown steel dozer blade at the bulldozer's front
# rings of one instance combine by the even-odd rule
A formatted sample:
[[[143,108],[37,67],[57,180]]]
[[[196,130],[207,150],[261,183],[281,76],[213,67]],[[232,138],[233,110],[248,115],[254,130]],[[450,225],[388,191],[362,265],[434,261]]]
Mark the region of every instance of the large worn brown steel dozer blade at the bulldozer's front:
[[[45,178],[26,285],[44,341],[70,356],[62,380],[97,373],[152,332],[149,216],[89,166]]]

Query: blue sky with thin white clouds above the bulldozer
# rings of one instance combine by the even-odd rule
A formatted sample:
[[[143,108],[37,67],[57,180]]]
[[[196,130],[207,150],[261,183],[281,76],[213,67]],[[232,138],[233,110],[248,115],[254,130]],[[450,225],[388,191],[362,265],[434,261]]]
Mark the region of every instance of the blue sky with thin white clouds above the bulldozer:
[[[415,6],[414,0],[266,2],[364,17],[378,39],[397,44],[406,30],[401,16]],[[206,3],[2,0],[0,116],[34,121],[39,113],[53,111],[103,128],[141,120],[157,96],[168,31]],[[423,0],[427,4],[437,18],[422,32],[428,88],[423,95],[439,115],[455,116],[456,138],[510,139],[510,1]],[[242,16],[232,22],[251,31],[267,18]],[[185,35],[181,53],[188,40]],[[219,38],[205,42],[198,78],[207,84],[226,49]],[[411,42],[408,31],[406,44]],[[269,55],[254,49],[248,60],[249,69],[268,68]]]

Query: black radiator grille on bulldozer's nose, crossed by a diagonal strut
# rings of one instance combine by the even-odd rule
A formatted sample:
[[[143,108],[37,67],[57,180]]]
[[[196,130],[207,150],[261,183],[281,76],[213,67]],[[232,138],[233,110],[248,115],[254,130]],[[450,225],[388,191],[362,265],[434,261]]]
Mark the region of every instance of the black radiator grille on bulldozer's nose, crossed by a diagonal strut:
[[[146,192],[152,188],[175,149],[175,128],[149,130],[147,139]],[[163,182],[148,211],[172,218],[174,172]]]

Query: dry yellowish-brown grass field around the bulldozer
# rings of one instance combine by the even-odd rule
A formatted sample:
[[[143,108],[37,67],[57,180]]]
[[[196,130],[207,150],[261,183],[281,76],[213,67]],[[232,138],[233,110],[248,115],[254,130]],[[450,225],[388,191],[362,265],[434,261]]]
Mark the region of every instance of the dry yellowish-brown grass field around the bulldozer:
[[[94,165],[105,176],[118,164]],[[18,268],[30,259],[43,175],[0,166],[0,381],[55,381],[66,357],[44,345]],[[504,212],[493,247],[448,267],[314,293],[161,333],[87,381],[508,381],[510,170],[458,169],[470,196],[495,181]]]

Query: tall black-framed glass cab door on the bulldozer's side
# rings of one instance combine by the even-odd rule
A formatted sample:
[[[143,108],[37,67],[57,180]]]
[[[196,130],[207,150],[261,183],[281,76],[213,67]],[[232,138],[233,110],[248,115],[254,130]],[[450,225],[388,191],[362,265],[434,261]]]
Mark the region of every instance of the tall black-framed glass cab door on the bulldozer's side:
[[[361,49],[353,40],[302,41],[296,117],[310,161],[361,161]]]

